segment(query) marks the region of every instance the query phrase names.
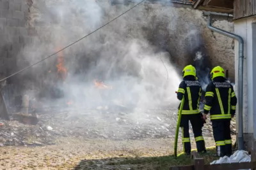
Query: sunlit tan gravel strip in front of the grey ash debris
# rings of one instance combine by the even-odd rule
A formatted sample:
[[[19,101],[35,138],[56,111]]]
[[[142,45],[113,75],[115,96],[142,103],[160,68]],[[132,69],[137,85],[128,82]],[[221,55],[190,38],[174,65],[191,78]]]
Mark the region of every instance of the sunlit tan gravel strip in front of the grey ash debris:
[[[58,145],[1,147],[0,169],[148,169],[150,164],[120,164],[129,158],[161,157],[173,153],[173,139],[113,141],[61,138]],[[205,138],[206,145],[214,145]],[[193,148],[195,148],[195,143]],[[179,141],[179,151],[182,145]],[[79,166],[78,166],[79,165]]]

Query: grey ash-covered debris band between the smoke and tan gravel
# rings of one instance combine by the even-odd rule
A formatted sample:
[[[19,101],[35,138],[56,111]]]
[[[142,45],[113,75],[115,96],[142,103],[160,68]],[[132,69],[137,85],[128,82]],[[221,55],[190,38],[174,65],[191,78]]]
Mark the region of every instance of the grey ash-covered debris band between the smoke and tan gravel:
[[[12,116],[11,116],[12,117]],[[26,125],[17,120],[4,121],[0,129],[1,146],[56,145],[60,138],[140,140],[175,138],[177,109],[162,106],[148,110],[129,110],[125,106],[69,108],[36,113],[38,124]],[[12,118],[13,119],[13,118]],[[235,132],[235,122],[232,122]],[[204,125],[204,136],[212,136],[211,122]],[[191,131],[191,139],[193,132]]]

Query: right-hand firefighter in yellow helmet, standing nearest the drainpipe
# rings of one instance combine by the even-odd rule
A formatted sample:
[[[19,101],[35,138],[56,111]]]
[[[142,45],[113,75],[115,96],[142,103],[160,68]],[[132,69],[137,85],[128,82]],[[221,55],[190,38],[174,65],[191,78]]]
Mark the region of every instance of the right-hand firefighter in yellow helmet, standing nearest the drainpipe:
[[[233,86],[225,78],[222,67],[214,67],[211,71],[211,83],[205,92],[204,119],[210,113],[212,131],[216,143],[217,156],[232,154],[230,120],[236,113],[237,98]]]

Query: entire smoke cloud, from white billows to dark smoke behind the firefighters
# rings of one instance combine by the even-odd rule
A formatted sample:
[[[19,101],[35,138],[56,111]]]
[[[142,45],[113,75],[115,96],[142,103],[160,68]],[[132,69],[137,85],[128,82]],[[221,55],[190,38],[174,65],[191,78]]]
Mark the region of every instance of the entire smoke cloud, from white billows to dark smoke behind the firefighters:
[[[133,5],[111,6],[103,0],[34,0],[29,25],[36,28],[38,39],[20,52],[26,63],[18,64],[19,69],[90,34]],[[104,127],[104,131],[116,129],[119,118],[113,108],[119,108],[129,113],[125,120],[132,122],[132,127],[142,122],[147,127],[153,124],[150,129],[158,125],[164,134],[170,133],[176,124],[175,116],[170,114],[175,113],[179,104],[175,91],[181,81],[180,69],[193,64],[205,87],[211,66],[200,29],[189,23],[184,25],[173,8],[162,7],[141,4],[56,56],[15,76],[22,93],[28,94],[37,108],[70,106],[77,110],[104,110],[108,117],[87,113],[95,124],[111,125]],[[161,10],[154,11],[155,8]],[[182,34],[181,27],[189,31]],[[180,35],[182,38],[177,38]],[[177,46],[181,45],[184,48],[180,50]],[[173,113],[164,112],[164,118],[157,111],[148,113],[165,106],[172,108]],[[79,114],[74,112],[70,114]],[[148,120],[147,114],[154,118]],[[124,127],[119,131],[127,130]]]

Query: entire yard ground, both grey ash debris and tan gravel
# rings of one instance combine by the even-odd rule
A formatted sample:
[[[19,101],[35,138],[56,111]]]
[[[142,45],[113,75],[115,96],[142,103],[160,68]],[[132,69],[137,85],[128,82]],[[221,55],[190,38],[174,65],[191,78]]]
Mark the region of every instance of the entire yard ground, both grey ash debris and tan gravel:
[[[116,162],[172,154],[176,113],[173,108],[69,108],[38,113],[37,125],[2,121],[0,169],[152,169],[149,163]],[[204,137],[214,146],[209,122]],[[178,148],[181,152],[181,141]]]

